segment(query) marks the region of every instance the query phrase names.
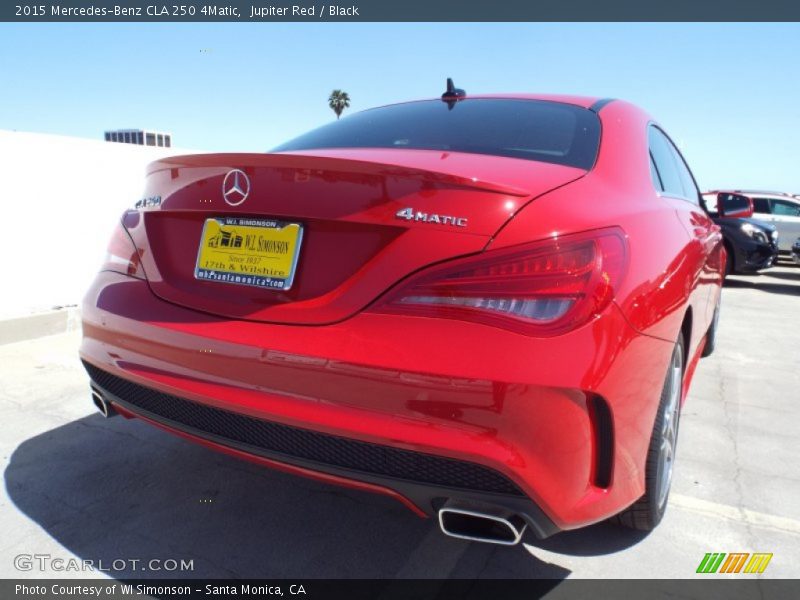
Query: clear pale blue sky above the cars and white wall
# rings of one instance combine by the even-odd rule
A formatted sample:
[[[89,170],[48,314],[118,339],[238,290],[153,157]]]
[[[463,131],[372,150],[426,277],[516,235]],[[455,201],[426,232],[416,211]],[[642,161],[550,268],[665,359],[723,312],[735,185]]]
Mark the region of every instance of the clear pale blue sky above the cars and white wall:
[[[443,91],[625,98],[704,188],[800,192],[800,24],[0,24],[0,129],[263,151]],[[347,113],[345,113],[347,114]]]

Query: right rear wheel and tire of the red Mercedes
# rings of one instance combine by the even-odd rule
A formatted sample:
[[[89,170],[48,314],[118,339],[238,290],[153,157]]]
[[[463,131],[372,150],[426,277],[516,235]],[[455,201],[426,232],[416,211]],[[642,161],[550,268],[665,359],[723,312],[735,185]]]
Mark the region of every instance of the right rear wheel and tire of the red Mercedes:
[[[667,510],[675,463],[675,447],[678,441],[684,356],[683,334],[681,334],[672,351],[653,433],[650,436],[644,495],[616,517],[620,525],[631,529],[652,531],[664,518]],[[669,456],[665,455],[666,442],[669,443]]]

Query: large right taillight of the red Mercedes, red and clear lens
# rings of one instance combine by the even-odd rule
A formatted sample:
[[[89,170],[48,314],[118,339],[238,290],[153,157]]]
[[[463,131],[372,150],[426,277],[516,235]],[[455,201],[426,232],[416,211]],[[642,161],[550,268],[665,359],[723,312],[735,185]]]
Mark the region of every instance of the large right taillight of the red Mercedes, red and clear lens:
[[[620,229],[553,236],[426,269],[371,310],[557,335],[599,315],[613,300],[626,266]]]

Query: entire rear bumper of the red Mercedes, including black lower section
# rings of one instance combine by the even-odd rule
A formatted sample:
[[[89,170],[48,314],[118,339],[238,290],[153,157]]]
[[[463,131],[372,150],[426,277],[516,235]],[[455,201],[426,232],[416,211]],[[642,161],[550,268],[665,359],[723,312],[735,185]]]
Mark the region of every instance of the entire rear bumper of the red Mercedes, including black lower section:
[[[388,493],[421,514],[446,499],[509,508],[542,537],[641,495],[672,350],[636,333],[616,306],[550,339],[371,314],[283,326],[197,313],[110,272],[88,292],[83,319],[81,357],[123,414],[263,464]],[[209,421],[220,413],[222,425]],[[410,471],[376,469],[376,454]],[[442,469],[456,463],[460,479]]]

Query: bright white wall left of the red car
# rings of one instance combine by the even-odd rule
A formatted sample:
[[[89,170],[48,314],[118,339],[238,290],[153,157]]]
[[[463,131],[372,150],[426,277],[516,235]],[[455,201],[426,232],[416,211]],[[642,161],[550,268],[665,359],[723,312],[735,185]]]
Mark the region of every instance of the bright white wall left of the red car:
[[[146,165],[189,152],[0,130],[0,318],[79,304]]]

